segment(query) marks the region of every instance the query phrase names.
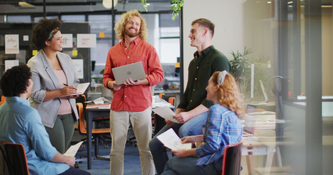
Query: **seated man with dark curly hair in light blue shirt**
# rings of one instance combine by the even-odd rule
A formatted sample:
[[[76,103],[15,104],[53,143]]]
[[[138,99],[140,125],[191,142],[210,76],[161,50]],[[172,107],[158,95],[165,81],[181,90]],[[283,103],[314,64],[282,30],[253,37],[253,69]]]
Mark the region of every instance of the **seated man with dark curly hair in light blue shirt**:
[[[14,66],[1,77],[6,102],[0,106],[0,141],[24,146],[30,174],[90,174],[73,168],[75,157],[60,154],[51,145],[39,112],[27,100],[32,86],[26,65]]]

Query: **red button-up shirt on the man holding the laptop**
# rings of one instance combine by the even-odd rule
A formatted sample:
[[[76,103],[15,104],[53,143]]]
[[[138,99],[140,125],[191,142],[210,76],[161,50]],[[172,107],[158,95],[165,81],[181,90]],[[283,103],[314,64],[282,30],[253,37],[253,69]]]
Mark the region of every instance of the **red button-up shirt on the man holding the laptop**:
[[[142,62],[149,85],[127,86],[122,84],[119,90],[113,91],[111,110],[113,111],[144,111],[152,105],[152,91],[150,86],[163,81],[163,70],[155,48],[148,42],[137,38],[130,43],[127,49],[124,40],[111,47],[108,52],[103,74],[104,86],[109,81],[115,81],[112,68],[131,63]]]

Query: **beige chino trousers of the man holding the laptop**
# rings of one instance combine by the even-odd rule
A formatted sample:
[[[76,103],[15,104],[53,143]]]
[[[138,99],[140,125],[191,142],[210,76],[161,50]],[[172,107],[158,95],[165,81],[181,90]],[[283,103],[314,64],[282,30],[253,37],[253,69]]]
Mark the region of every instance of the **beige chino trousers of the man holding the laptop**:
[[[149,141],[152,139],[151,116],[151,106],[141,112],[112,111],[110,113],[110,133],[112,138],[110,153],[111,175],[124,174],[124,149],[130,122],[139,147],[142,174],[155,175],[153,157],[148,146]]]

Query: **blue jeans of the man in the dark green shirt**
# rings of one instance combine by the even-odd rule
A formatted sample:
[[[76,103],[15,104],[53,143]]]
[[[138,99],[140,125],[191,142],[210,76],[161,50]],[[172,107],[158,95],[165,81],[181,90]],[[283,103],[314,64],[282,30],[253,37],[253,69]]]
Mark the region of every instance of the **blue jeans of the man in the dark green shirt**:
[[[196,136],[202,134],[202,125],[206,124],[208,112],[201,113],[189,119],[184,124],[174,123],[171,128],[179,135],[179,138],[185,136]],[[169,157],[166,154],[166,147],[157,139],[157,136],[170,129],[164,126],[159,133],[149,142],[149,148],[153,155],[153,160],[157,174],[162,174]]]

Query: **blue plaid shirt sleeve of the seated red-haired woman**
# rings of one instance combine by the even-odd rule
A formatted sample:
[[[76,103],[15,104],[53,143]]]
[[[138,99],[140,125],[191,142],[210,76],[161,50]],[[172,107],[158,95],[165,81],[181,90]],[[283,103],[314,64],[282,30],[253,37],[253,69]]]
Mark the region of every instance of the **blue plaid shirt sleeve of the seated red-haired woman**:
[[[212,154],[219,149],[223,133],[223,117],[221,115],[214,106],[210,107],[206,122],[206,133],[203,135],[204,144],[195,149],[198,156]]]

